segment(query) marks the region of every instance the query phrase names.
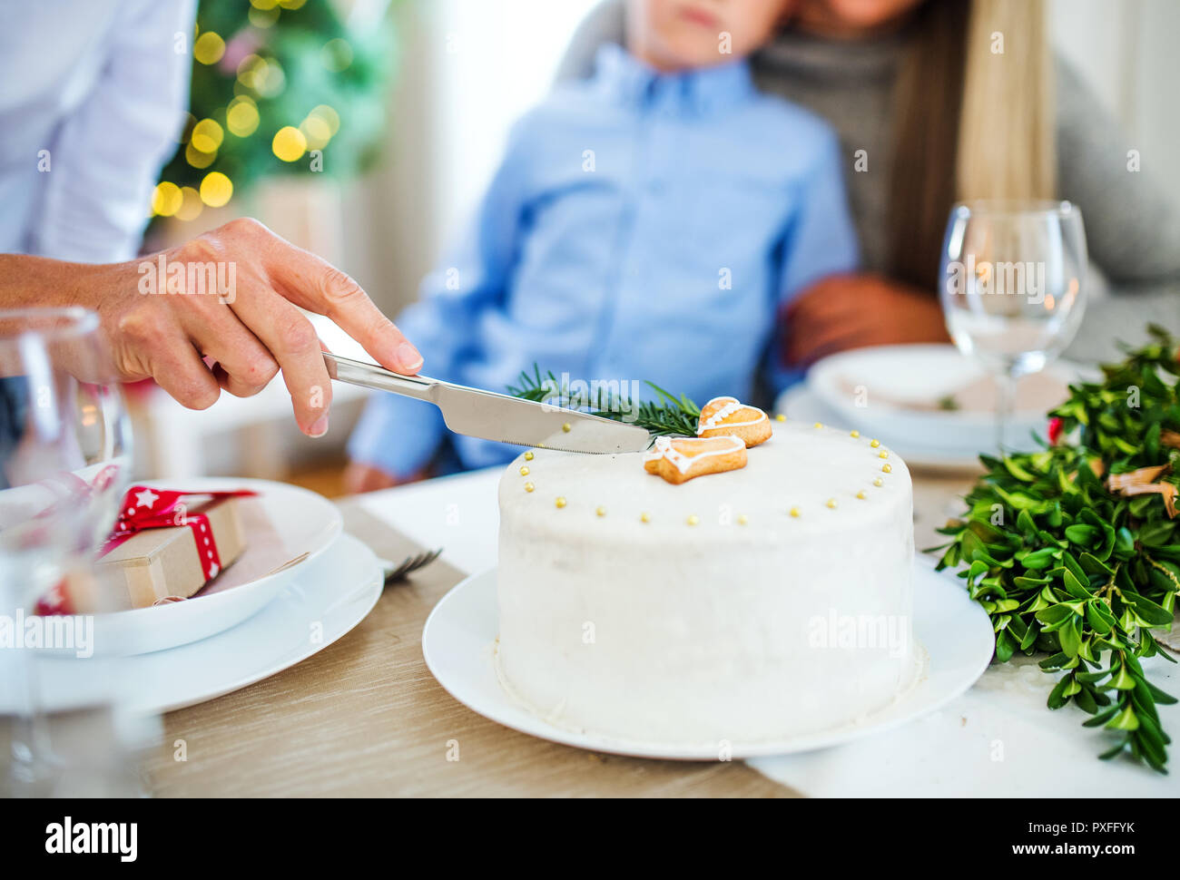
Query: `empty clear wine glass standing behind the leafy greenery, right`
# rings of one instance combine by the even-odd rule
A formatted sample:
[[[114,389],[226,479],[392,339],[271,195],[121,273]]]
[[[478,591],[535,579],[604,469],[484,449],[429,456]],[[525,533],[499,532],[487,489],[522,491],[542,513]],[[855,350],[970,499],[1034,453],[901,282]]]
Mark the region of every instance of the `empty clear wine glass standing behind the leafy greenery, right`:
[[[1016,381],[1054,361],[1086,309],[1086,231],[1069,202],[978,201],[951,209],[940,298],[958,349],[996,379],[996,448],[1011,438]]]

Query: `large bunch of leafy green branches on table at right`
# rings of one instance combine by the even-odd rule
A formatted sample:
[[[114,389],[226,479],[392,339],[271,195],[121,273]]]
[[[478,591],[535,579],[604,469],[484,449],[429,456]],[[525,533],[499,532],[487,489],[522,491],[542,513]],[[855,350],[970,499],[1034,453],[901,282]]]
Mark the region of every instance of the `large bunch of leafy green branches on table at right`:
[[[1180,344],[1148,333],[1102,381],[1070,387],[1040,451],[981,455],[970,508],[932,550],[944,550],[939,569],[962,566],[991,617],[996,659],[1048,655],[1041,668],[1061,674],[1049,708],[1073,702],[1092,716],[1084,727],[1112,731],[1100,757],[1129,754],[1166,773],[1172,741],[1156,705],[1176,701],[1140,661],[1175,662],[1152,631],[1171,626],[1180,591]]]

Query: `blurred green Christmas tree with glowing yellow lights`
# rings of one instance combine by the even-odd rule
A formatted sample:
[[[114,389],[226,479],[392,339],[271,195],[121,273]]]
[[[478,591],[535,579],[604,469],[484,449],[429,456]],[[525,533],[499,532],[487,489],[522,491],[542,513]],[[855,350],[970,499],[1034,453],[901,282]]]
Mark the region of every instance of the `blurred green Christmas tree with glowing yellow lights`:
[[[363,171],[385,129],[393,67],[386,6],[201,0],[189,118],[153,212],[191,219],[267,177]]]

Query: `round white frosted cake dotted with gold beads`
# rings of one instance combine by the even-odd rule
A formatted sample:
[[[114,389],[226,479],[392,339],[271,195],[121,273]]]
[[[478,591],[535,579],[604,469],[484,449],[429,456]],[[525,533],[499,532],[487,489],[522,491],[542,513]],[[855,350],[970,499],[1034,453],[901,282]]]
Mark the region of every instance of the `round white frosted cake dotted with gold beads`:
[[[536,449],[500,480],[505,689],[553,724],[674,746],[837,728],[912,684],[912,487],[857,432],[774,425],[681,485],[650,453]]]

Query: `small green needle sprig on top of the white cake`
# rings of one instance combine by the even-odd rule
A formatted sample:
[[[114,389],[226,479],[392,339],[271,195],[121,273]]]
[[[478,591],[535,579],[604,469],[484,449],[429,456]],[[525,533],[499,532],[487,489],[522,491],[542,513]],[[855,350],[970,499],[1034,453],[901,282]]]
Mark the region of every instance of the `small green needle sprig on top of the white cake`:
[[[571,393],[552,372],[542,375],[533,365],[532,373],[522,372],[517,385],[507,387],[513,398],[581,409],[615,421],[625,421],[647,428],[653,434],[695,436],[701,408],[686,395],[678,398],[654,382],[645,382],[656,393],[654,401],[631,400],[622,394],[598,388],[594,393]]]

